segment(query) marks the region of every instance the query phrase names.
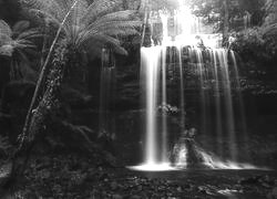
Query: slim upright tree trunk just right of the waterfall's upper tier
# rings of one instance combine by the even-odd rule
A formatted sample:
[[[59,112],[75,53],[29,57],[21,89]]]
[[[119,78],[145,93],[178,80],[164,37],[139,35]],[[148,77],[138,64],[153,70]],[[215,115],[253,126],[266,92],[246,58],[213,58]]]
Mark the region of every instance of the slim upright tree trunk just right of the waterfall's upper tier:
[[[228,46],[229,39],[229,0],[223,0],[224,21],[223,21],[223,46]]]

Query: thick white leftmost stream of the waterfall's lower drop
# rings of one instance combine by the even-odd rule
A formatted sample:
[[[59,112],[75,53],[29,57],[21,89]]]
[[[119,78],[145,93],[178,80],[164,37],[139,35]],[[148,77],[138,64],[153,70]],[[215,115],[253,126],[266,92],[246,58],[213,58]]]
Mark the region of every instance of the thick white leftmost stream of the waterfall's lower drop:
[[[158,103],[166,105],[166,70],[165,49],[152,46],[141,49],[141,87],[144,93],[143,104],[145,115],[145,151],[144,165],[135,167],[141,170],[167,170],[171,169],[167,158],[167,125],[164,108],[162,107],[162,122],[157,126]],[[162,73],[162,78],[160,74]],[[162,84],[162,97],[160,96]],[[160,128],[160,130],[158,130]]]

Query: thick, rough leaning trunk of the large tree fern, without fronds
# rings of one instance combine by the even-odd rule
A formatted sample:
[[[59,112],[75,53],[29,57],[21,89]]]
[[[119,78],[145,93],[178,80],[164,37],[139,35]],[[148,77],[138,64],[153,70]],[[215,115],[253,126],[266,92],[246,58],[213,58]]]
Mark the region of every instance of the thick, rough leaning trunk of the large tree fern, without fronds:
[[[20,177],[28,164],[31,150],[35,144],[38,135],[42,135],[47,129],[48,119],[52,111],[59,104],[60,88],[64,76],[64,67],[69,61],[69,49],[66,45],[60,45],[55,51],[55,59],[50,67],[49,78],[47,81],[47,90],[39,102],[38,107],[32,113],[32,119],[25,137],[25,140],[21,149],[12,158],[12,171],[11,178],[8,184],[14,184],[18,177]],[[23,161],[20,160],[20,154],[23,154]],[[8,185],[9,186],[9,185]]]

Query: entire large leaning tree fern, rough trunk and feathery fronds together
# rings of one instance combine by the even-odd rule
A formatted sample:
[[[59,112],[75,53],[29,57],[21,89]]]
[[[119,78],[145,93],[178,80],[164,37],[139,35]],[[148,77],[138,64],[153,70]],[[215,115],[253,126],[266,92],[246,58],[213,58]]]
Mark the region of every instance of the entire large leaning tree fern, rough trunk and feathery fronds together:
[[[47,118],[59,102],[64,71],[69,65],[78,66],[78,63],[82,63],[79,59],[82,54],[100,55],[106,44],[120,53],[126,53],[120,46],[120,36],[135,34],[136,28],[141,24],[135,18],[136,11],[116,11],[121,2],[119,0],[95,0],[91,4],[86,0],[22,0],[21,2],[31,12],[59,29],[35,87],[20,136],[19,150],[25,137],[28,137],[25,145],[30,145],[35,135],[44,130]],[[53,50],[55,50],[54,59],[52,65],[48,67]],[[47,76],[49,77],[47,90],[39,102],[39,92]],[[33,112],[37,102],[39,105],[37,112]]]

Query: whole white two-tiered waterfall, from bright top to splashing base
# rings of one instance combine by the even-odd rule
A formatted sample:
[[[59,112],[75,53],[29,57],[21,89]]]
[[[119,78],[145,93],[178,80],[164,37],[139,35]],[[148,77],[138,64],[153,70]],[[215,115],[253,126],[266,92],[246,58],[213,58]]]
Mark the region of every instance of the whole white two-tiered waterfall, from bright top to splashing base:
[[[237,160],[237,138],[233,102],[233,88],[230,80],[230,65],[234,65],[234,78],[239,85],[235,54],[227,49],[218,48],[222,36],[218,34],[203,34],[201,20],[194,17],[189,9],[181,3],[178,11],[166,13],[160,11],[160,22],[163,24],[163,39],[161,45],[152,45],[141,49],[141,82],[144,93],[143,104],[146,111],[145,116],[145,151],[144,163],[132,169],[138,170],[170,170],[176,168],[188,168],[199,164],[205,168],[213,169],[242,169],[254,168],[249,165],[235,164]],[[168,21],[174,21],[174,25]],[[152,25],[153,27],[153,25]],[[206,30],[206,29],[204,29]],[[152,42],[155,43],[155,42]],[[158,43],[158,42],[156,42]],[[187,51],[188,62],[198,76],[199,102],[201,102],[201,134],[209,128],[207,118],[213,112],[207,104],[214,102],[215,107],[215,133],[216,153],[218,157],[225,156],[223,148],[224,135],[227,136],[227,157],[232,161],[220,161],[214,155],[205,153],[189,137],[183,137],[173,149],[174,163],[170,163],[168,126],[166,117],[167,106],[167,67],[177,65],[179,77],[179,126],[183,133],[186,128],[185,112],[185,67],[189,64],[184,62],[183,54]],[[168,55],[170,54],[170,55]],[[168,64],[170,62],[170,64]],[[206,62],[209,62],[207,66]],[[214,82],[213,87],[206,84]],[[208,90],[208,91],[207,91]],[[239,104],[243,108],[243,98],[239,95]],[[158,117],[158,107],[162,107],[162,118]],[[244,113],[240,112],[245,119]],[[245,125],[245,121],[243,121]],[[246,126],[244,126],[246,128]],[[181,134],[182,134],[181,133]],[[247,135],[245,135],[247,137]],[[191,163],[188,161],[191,159]],[[173,166],[172,166],[173,165]]]

